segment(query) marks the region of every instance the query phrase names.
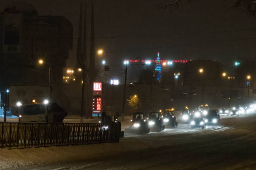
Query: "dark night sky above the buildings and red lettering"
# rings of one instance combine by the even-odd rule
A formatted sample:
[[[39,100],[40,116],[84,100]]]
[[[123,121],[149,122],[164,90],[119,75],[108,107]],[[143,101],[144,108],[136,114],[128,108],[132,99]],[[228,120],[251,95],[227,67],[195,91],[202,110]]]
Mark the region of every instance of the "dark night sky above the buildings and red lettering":
[[[12,1],[0,1],[0,10]],[[162,59],[212,59],[228,63],[224,66],[234,59],[253,58],[256,19],[232,8],[236,1],[181,0],[178,9],[173,10],[161,9],[172,0],[94,0],[95,49],[103,48],[106,52],[101,59],[96,57],[96,65],[106,59],[107,65],[112,65],[110,69],[120,69],[124,59],[155,59],[157,52]],[[67,17],[74,27],[73,37],[78,37],[79,8],[84,0],[27,2],[39,15]],[[87,4],[90,33],[91,1]],[[104,38],[109,36],[115,38]],[[76,63],[76,39],[73,47],[68,66]]]

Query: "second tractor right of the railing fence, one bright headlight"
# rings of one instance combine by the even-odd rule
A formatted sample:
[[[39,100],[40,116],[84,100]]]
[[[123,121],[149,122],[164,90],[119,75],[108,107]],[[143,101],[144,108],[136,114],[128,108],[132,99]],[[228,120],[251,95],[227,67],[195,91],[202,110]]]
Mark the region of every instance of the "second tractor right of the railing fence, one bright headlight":
[[[148,126],[157,128],[159,131],[164,130],[165,126],[163,125],[163,119],[161,113],[158,111],[151,111],[148,114]]]

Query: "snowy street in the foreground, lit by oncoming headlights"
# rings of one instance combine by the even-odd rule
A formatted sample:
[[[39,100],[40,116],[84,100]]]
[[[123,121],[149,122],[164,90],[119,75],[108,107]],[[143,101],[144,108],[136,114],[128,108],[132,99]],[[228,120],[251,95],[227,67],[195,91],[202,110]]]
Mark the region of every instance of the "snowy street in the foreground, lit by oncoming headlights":
[[[222,116],[219,126],[206,129],[179,124],[158,133],[125,134],[120,143],[72,146],[81,153],[88,150],[89,156],[53,159],[50,164],[38,163],[36,169],[245,169],[256,164],[255,123],[256,114],[244,114]],[[104,149],[95,154],[90,147]]]

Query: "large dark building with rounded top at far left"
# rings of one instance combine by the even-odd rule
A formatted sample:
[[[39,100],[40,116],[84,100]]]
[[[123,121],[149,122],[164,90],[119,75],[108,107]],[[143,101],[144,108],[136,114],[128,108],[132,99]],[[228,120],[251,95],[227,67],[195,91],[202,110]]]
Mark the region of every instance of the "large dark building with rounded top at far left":
[[[25,2],[8,5],[0,13],[1,91],[11,84],[51,85],[53,100],[61,95],[72,36],[72,24],[63,16],[39,16]]]

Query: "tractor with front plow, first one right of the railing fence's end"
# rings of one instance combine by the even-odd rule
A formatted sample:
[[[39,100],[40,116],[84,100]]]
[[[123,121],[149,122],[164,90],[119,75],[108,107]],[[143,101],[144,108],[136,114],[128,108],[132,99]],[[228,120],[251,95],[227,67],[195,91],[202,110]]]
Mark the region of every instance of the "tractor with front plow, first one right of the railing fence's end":
[[[147,114],[143,112],[134,112],[131,119],[132,125],[125,129],[125,133],[143,133],[150,132],[148,127]]]

